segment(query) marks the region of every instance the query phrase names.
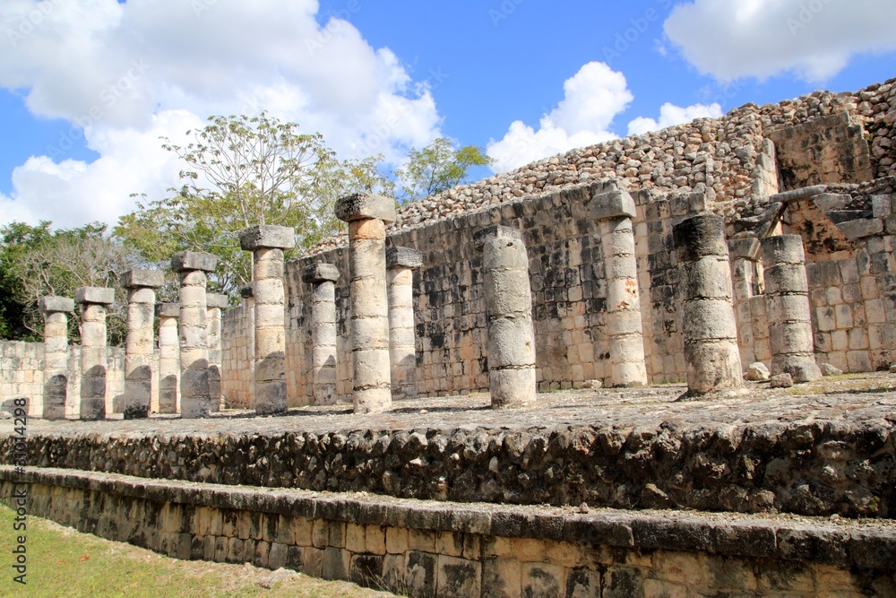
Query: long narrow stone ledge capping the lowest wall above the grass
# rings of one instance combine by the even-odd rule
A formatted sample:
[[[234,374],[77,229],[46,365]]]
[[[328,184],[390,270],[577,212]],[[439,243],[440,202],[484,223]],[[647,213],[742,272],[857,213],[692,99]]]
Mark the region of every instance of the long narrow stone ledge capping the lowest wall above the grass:
[[[422,501],[407,498],[147,480],[115,473],[54,468],[15,472],[0,465],[0,482],[87,490],[157,503],[254,511],[346,524],[469,533],[508,539],[590,544],[629,550],[675,550],[721,557],[823,563],[837,567],[896,570],[896,525],[797,516],[521,507]],[[0,496],[4,502],[9,496]],[[543,511],[542,513],[534,511]],[[567,509],[568,510],[568,509]],[[35,514],[37,515],[37,514]],[[867,523],[867,522],[866,522]]]

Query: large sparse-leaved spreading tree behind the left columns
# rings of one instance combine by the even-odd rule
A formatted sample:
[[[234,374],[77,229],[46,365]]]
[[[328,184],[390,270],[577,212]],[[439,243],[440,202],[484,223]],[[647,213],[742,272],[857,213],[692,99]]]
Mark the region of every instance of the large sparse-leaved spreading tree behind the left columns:
[[[209,117],[194,141],[162,145],[185,161],[184,185],[172,196],[139,203],[115,235],[153,262],[183,249],[219,258],[211,288],[237,294],[252,280],[251,259],[239,248],[241,230],[258,224],[297,230],[297,251],[344,230],[333,204],[342,195],[383,186],[378,159],[337,160],[320,134],[295,123],[258,117]]]

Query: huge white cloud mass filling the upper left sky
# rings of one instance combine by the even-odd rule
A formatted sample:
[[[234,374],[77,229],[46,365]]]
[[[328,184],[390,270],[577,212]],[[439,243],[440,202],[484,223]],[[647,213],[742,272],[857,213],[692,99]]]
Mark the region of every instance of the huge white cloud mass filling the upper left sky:
[[[264,108],[321,132],[343,157],[398,163],[440,135],[441,119],[426,83],[349,22],[359,10],[372,9],[349,3],[321,25],[316,0],[4,0],[0,87],[74,128],[15,169],[0,223],[114,223],[133,208],[129,194],[158,198],[176,181],[159,136],[210,114]],[[66,160],[62,143],[78,135],[99,160]],[[80,198],[90,201],[75,209]]]

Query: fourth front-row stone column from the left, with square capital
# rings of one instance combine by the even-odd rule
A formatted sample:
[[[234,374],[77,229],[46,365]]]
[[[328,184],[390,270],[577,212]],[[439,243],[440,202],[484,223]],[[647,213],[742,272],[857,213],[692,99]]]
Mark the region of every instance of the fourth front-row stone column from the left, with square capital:
[[[218,265],[211,254],[182,251],[171,257],[180,274],[180,415],[209,415],[209,339],[206,284]]]

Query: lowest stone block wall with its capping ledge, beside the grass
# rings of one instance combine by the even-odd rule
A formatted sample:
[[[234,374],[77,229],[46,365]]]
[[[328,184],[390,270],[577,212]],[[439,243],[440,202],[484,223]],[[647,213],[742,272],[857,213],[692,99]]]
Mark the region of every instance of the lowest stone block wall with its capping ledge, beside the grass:
[[[12,495],[14,476],[0,468],[0,496]],[[890,529],[420,505],[53,470],[22,481],[30,514],[82,532],[423,598],[896,593]]]

